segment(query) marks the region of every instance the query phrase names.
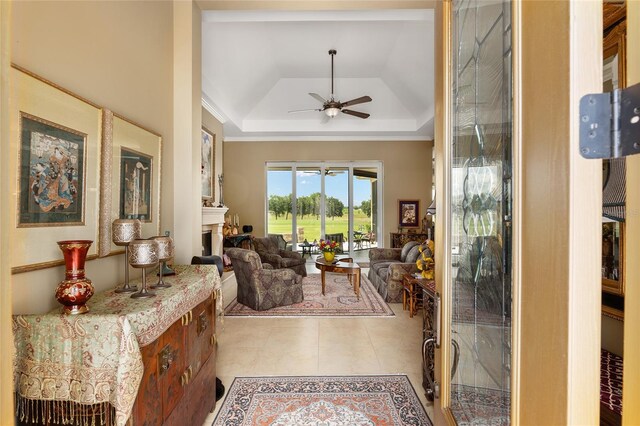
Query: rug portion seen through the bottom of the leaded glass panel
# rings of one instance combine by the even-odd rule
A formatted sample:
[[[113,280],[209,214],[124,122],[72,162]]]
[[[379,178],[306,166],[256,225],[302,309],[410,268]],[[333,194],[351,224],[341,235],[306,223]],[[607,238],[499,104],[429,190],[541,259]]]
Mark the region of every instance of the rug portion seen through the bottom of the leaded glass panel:
[[[510,394],[497,389],[451,385],[451,410],[458,425],[509,425]]]

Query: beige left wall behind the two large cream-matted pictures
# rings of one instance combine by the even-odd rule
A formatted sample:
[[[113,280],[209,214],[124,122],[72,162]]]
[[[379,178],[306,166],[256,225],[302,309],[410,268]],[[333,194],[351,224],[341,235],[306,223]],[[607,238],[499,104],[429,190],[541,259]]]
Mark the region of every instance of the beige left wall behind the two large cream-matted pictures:
[[[170,2],[20,1],[12,12],[14,63],[160,133],[165,152],[173,150]],[[163,155],[162,170],[173,170],[171,155]],[[173,191],[171,181],[162,179],[162,191]],[[172,206],[162,200],[161,229],[172,230]],[[97,291],[123,279],[123,258],[87,262]],[[58,306],[53,294],[63,275],[63,267],[13,275],[13,312]]]

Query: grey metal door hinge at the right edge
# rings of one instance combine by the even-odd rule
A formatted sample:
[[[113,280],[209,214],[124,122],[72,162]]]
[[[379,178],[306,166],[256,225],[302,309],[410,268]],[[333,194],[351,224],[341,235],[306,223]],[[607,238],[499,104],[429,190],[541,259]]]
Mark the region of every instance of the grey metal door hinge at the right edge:
[[[580,99],[580,154],[620,158],[640,153],[640,83]]]

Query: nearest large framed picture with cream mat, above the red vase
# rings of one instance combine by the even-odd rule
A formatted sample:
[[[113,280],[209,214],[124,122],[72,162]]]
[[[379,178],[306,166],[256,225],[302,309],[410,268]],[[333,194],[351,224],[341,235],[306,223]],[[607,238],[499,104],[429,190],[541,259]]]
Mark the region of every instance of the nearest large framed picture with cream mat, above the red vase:
[[[10,78],[11,272],[64,265],[60,240],[92,240],[96,258],[101,109],[16,65]]]

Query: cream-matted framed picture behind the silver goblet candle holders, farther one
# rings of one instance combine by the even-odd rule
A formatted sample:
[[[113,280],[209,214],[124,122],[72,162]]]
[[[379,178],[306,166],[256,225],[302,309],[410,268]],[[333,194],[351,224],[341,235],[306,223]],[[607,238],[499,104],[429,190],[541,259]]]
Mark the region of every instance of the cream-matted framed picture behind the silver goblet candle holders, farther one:
[[[142,237],[160,233],[162,137],[104,110],[102,115],[100,256],[121,253],[111,241],[116,219],[139,219]]]

